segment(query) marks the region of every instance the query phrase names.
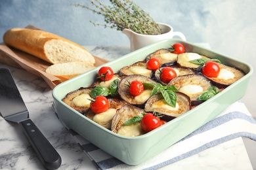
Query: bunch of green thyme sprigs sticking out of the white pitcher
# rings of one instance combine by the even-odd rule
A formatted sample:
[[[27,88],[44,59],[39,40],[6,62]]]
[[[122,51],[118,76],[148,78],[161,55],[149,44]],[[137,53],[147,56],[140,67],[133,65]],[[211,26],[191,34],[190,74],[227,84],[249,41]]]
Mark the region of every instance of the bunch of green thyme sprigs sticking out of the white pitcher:
[[[91,10],[93,13],[104,16],[106,24],[104,27],[110,27],[117,30],[123,30],[125,28],[131,29],[136,33],[144,35],[159,35],[161,29],[156,22],[150,17],[149,14],[140,9],[138,5],[129,0],[110,0],[112,6],[103,5],[99,0],[88,0],[93,7],[87,7],[85,5],[74,4],[75,7],[82,7]]]

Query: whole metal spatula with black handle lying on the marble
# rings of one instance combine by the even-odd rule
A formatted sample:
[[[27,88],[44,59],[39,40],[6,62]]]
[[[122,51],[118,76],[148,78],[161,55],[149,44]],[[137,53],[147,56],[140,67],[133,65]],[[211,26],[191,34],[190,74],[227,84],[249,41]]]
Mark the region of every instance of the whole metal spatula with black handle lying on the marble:
[[[0,69],[0,112],[5,120],[17,122],[23,129],[39,160],[47,169],[57,169],[61,158],[51,143],[30,120],[28,109],[9,69]]]

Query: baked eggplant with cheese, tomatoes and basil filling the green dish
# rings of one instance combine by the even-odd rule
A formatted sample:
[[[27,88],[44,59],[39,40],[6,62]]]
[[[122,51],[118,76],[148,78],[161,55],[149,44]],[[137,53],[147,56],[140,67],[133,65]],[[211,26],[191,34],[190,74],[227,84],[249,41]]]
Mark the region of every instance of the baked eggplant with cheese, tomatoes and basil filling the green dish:
[[[132,137],[181,116],[245,75],[218,59],[175,46],[156,50],[118,73],[100,67],[95,83],[62,101],[100,126]]]

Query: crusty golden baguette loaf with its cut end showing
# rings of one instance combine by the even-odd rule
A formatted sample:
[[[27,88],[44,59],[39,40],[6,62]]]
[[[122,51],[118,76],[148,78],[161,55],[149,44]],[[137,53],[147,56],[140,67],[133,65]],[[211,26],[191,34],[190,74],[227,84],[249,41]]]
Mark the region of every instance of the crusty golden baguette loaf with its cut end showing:
[[[12,28],[5,32],[3,41],[49,63],[83,61],[95,64],[95,58],[83,46],[47,31]]]

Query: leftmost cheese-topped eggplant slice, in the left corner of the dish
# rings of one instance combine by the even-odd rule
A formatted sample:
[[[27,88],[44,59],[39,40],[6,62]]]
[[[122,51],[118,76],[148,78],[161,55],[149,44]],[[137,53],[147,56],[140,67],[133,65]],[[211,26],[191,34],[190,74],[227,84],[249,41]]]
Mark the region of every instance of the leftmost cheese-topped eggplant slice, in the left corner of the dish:
[[[78,112],[86,112],[90,108],[91,100],[89,99],[92,99],[90,97],[92,90],[93,88],[79,88],[68,93],[62,101]]]

